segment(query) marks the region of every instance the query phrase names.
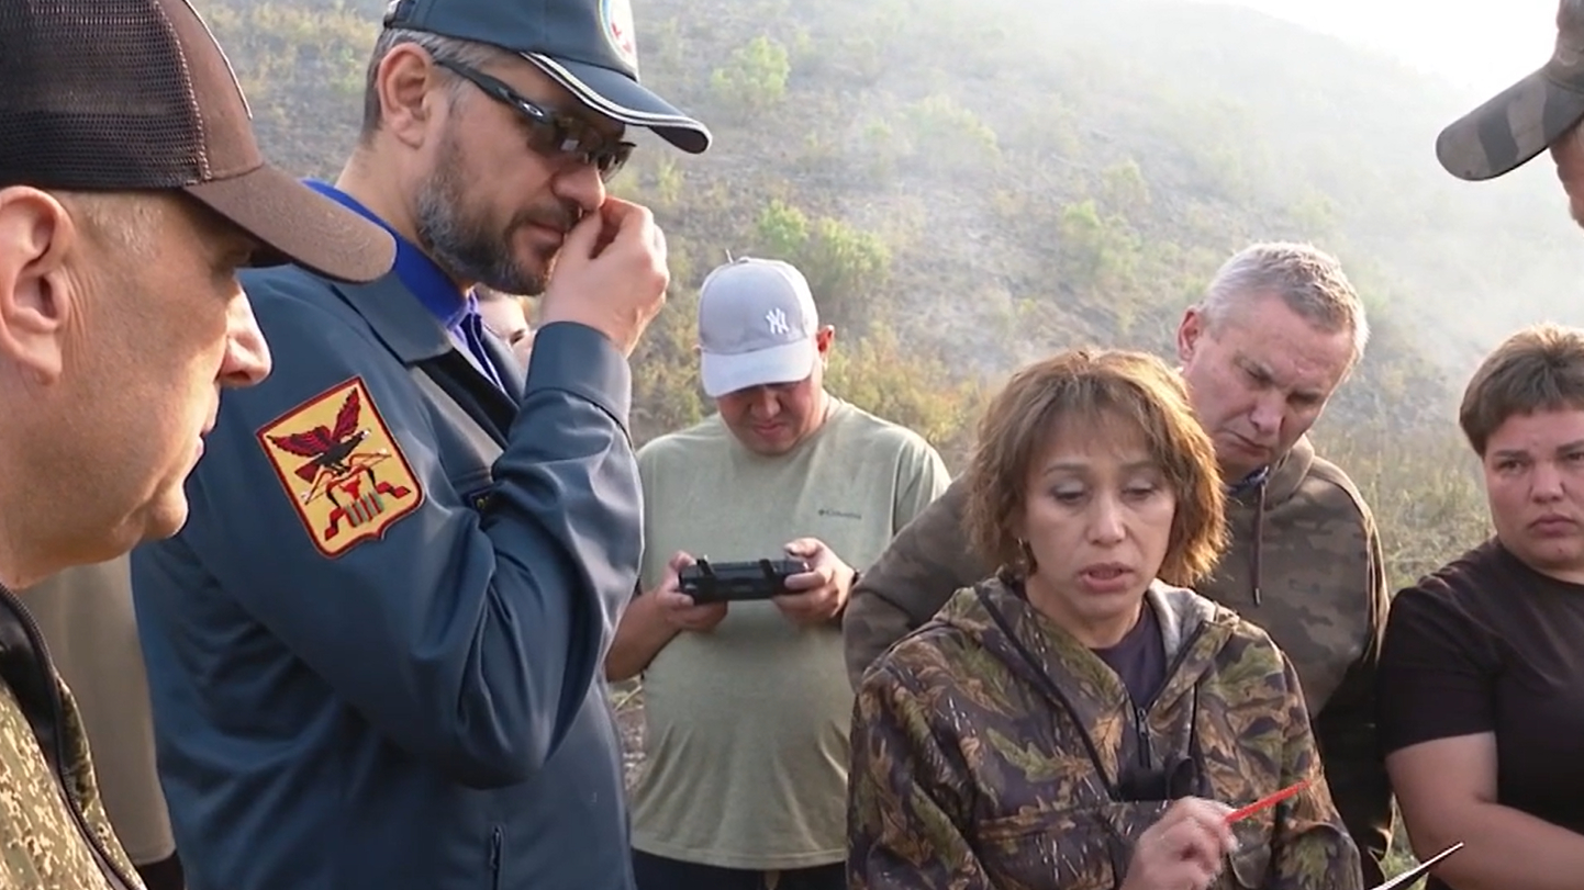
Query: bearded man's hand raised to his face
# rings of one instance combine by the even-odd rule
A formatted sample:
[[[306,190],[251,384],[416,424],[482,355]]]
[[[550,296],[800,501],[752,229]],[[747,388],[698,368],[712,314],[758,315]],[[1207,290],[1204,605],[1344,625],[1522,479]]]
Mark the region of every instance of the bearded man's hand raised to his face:
[[[540,298],[540,326],[577,321],[630,356],[665,302],[665,234],[648,207],[605,198],[567,233]]]

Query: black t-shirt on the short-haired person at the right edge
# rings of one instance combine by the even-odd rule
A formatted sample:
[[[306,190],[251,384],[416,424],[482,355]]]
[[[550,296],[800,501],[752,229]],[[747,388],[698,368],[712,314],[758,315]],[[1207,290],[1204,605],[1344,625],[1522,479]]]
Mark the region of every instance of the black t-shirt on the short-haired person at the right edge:
[[[1397,594],[1378,681],[1386,754],[1494,732],[1497,803],[1584,833],[1584,586],[1486,542]]]

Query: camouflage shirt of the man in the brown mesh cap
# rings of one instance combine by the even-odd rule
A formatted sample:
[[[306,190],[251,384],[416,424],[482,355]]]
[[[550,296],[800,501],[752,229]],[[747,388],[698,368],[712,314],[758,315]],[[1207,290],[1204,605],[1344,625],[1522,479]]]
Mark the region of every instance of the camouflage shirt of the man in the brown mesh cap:
[[[16,597],[0,588],[0,887],[143,890],[100,801],[76,702],[29,624]],[[49,679],[24,690],[13,686],[22,675]],[[59,740],[52,757],[40,747],[35,722]]]

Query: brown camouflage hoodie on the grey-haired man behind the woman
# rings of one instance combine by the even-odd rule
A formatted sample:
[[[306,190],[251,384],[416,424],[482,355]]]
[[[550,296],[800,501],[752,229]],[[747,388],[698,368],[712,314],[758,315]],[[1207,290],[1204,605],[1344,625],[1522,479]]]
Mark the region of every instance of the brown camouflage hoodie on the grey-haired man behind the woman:
[[[854,684],[954,591],[993,572],[963,534],[966,497],[954,481],[863,570],[843,619]],[[1375,727],[1389,602],[1375,519],[1346,474],[1300,439],[1261,485],[1229,499],[1228,527],[1231,546],[1199,592],[1266,629],[1293,660],[1326,779],[1367,854],[1364,877],[1378,884],[1392,809]]]

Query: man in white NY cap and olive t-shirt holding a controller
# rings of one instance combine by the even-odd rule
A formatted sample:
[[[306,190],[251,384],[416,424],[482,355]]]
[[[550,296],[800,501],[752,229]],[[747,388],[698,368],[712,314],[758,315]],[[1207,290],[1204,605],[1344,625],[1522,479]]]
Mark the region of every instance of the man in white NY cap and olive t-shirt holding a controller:
[[[640,595],[605,659],[611,679],[643,675],[638,890],[846,888],[841,613],[854,567],[950,475],[923,437],[825,390],[835,333],[790,264],[714,269],[699,371],[718,413],[638,450]],[[787,595],[699,605],[678,589],[694,554],[808,572]]]

